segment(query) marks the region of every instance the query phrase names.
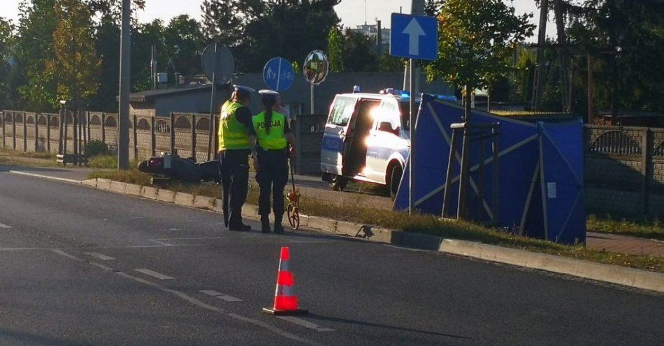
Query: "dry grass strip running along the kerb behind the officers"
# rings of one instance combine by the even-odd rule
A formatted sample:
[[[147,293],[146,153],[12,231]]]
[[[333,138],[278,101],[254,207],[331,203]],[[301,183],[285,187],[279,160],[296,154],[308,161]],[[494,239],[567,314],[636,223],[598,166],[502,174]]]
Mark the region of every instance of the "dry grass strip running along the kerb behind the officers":
[[[90,179],[104,178],[140,185],[147,185],[150,183],[150,176],[138,172],[136,169],[121,172],[92,172],[89,177]],[[221,188],[212,183],[182,183],[177,181],[166,181],[164,182],[164,188],[182,193],[190,193],[192,195],[204,195],[215,198],[221,197]],[[256,184],[250,183],[247,202],[250,204],[258,204],[258,195],[258,187]],[[394,230],[402,230],[403,232],[442,236],[448,239],[479,241],[481,243],[504,246],[506,248],[517,248],[537,253],[571,257],[578,260],[615,264],[618,266],[664,273],[664,259],[661,257],[609,253],[607,251],[589,249],[582,245],[565,246],[551,243],[550,241],[516,236],[514,234],[503,232],[498,228],[484,227],[468,222],[440,220],[439,218],[430,215],[410,216],[407,213],[362,206],[358,202],[359,197],[352,195],[349,195],[349,198],[339,200],[336,203],[331,203],[327,200],[317,200],[310,196],[302,196],[300,200],[300,209],[303,213],[311,216],[321,216],[324,218],[333,218],[335,220],[376,225]]]

